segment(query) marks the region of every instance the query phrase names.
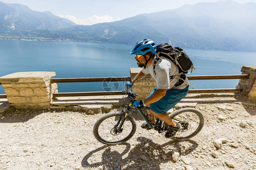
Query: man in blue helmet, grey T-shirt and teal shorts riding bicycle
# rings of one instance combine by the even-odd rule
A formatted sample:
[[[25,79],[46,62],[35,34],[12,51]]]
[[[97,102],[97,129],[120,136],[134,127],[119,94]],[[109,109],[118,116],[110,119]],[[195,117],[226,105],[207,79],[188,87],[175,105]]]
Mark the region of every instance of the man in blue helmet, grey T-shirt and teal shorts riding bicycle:
[[[170,119],[167,111],[172,109],[187,95],[189,91],[189,80],[186,77],[185,81],[177,85],[177,82],[181,81],[178,77],[170,79],[171,76],[179,74],[179,69],[171,60],[164,58],[163,56],[159,56],[160,59],[156,62],[154,67],[154,60],[157,58],[157,54],[156,45],[152,40],[138,42],[130,54],[135,55],[134,59],[137,61],[138,67],[143,67],[143,69],[132,81],[127,82],[126,86],[132,86],[147,74],[150,74],[157,83],[157,87],[154,88],[151,94],[143,101],[135,101],[133,107],[150,107],[148,114],[152,117],[151,123],[155,123],[154,116],[166,122],[169,125],[169,128],[164,137],[173,137],[181,129],[181,126],[179,123]],[[143,123],[141,127],[144,129],[149,128],[147,123]]]

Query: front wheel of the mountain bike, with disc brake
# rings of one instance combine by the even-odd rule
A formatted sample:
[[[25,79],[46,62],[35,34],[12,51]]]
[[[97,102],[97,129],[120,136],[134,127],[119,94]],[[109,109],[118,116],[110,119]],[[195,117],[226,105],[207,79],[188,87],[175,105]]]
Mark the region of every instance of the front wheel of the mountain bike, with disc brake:
[[[124,118],[121,112],[112,112],[102,116],[93,127],[95,138],[106,145],[117,145],[129,140],[136,131],[132,116]]]

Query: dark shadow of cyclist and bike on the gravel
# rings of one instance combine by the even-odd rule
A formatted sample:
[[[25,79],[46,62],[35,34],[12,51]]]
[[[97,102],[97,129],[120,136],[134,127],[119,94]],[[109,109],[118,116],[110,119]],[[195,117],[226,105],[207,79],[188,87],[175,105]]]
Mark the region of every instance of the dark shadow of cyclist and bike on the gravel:
[[[82,160],[84,168],[99,168],[102,170],[136,170],[136,169],[152,169],[159,170],[161,163],[175,161],[172,159],[174,150],[182,155],[191,154],[197,148],[197,143],[193,140],[184,142],[169,141],[163,145],[154,143],[152,140],[139,137],[139,142],[131,149],[129,143],[114,146],[102,146],[96,150],[92,150]],[[120,149],[121,147],[121,149]],[[121,151],[120,151],[121,150]],[[98,159],[101,155],[101,160]],[[103,153],[102,153],[103,152]]]

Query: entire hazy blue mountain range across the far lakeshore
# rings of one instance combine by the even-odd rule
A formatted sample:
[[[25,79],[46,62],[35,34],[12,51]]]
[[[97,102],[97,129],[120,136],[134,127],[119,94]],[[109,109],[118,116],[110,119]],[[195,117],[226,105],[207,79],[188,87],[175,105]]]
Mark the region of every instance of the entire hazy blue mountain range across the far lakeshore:
[[[0,36],[134,44],[151,39],[181,48],[256,51],[256,4],[197,3],[95,25],[0,2]]]

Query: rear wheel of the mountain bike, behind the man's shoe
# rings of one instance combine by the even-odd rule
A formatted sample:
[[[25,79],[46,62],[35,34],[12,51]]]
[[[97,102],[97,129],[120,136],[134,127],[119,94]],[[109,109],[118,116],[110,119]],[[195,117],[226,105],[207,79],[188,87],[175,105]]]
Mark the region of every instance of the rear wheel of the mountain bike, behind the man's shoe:
[[[195,108],[183,108],[174,111],[170,118],[179,123],[182,129],[176,133],[172,140],[183,141],[194,137],[204,126],[204,116]]]

